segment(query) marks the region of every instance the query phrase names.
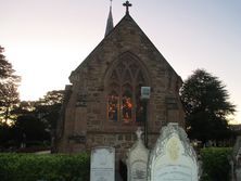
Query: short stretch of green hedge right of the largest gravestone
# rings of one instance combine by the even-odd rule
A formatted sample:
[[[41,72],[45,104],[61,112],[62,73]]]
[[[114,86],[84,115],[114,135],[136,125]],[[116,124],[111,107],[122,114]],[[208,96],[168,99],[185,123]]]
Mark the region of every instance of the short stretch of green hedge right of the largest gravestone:
[[[229,157],[232,148],[230,147],[208,147],[201,150],[203,161],[201,181],[229,181],[230,170]]]

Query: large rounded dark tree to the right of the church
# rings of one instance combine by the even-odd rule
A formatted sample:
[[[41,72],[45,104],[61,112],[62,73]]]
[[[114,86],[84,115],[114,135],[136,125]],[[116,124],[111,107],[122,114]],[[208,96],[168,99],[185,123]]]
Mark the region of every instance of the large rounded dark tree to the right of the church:
[[[236,106],[229,102],[226,86],[204,69],[194,70],[180,90],[186,111],[187,132],[191,139],[223,140],[228,138],[228,116]]]

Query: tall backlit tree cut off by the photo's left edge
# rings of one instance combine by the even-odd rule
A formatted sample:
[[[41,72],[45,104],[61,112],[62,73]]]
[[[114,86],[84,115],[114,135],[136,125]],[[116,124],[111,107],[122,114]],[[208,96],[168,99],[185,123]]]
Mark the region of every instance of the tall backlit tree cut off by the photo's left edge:
[[[0,47],[0,121],[11,119],[11,111],[20,102],[20,76],[14,75],[12,64],[3,55],[4,49]]]

